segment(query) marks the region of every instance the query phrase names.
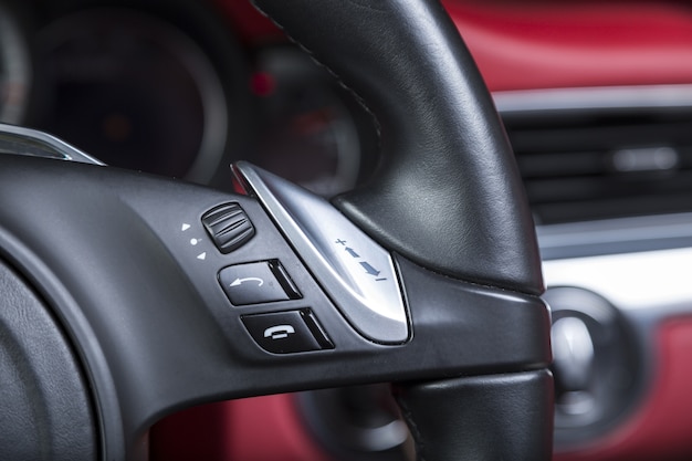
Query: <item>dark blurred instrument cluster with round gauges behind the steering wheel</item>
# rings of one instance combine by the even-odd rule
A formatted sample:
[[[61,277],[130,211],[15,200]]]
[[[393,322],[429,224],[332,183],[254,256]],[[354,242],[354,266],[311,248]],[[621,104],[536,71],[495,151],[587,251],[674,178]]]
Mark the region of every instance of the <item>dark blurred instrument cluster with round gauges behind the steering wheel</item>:
[[[369,114],[280,33],[249,36],[222,7],[0,1],[0,122],[221,189],[239,159],[324,196],[353,188],[376,161]]]

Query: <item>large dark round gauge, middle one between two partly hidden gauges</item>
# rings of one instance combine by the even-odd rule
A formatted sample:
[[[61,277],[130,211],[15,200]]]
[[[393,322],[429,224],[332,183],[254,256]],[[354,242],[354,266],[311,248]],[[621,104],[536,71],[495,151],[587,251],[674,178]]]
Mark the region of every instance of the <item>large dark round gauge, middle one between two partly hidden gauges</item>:
[[[207,53],[174,24],[101,8],[40,36],[39,127],[109,165],[206,182],[227,144],[229,107]]]

